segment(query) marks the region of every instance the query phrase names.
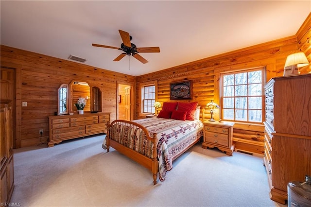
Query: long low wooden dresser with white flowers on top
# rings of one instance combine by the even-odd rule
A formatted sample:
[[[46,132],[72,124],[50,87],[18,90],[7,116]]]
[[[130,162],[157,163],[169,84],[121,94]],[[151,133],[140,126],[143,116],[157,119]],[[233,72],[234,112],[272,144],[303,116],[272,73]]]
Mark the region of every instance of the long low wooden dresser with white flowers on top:
[[[50,139],[48,146],[52,147],[54,144],[67,139],[107,133],[107,122],[109,121],[110,113],[50,116]]]

